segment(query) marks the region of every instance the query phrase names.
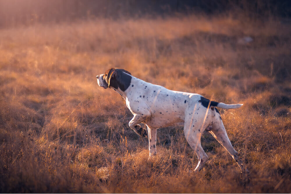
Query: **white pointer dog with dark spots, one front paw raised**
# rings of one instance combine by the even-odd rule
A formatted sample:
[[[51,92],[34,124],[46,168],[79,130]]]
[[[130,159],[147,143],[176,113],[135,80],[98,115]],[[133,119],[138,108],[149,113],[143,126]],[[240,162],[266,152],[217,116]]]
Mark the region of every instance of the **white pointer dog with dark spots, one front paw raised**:
[[[194,171],[200,171],[208,159],[200,143],[201,134],[205,130],[228,151],[242,172],[247,170],[231,145],[216,108],[235,109],[243,104],[228,105],[211,101],[199,94],[168,90],[119,68],[110,68],[96,78],[100,87],[111,88],[125,99],[126,106],[134,115],[129,121],[129,127],[140,136],[148,136],[149,157],[157,154],[157,129],[182,122],[185,138],[198,157]],[[141,127],[140,123],[144,123],[148,130]]]

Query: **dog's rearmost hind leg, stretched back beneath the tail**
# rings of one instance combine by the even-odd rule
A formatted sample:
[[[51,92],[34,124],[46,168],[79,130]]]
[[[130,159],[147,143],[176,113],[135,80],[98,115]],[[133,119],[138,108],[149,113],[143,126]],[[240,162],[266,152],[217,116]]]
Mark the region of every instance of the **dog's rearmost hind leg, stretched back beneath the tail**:
[[[244,163],[242,161],[242,158],[239,157],[239,154],[233,146],[230,143],[230,140],[226,134],[226,130],[223,126],[223,123],[221,119],[214,123],[212,130],[210,133],[214,136],[214,138],[230,153],[230,155],[233,157],[233,159],[238,164],[239,168],[242,170],[242,172],[249,172],[248,169],[244,168]]]

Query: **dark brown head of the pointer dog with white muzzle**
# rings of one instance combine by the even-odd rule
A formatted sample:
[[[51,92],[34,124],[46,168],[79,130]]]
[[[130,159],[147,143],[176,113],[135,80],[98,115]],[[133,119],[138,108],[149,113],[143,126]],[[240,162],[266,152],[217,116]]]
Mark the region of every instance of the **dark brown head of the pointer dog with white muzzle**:
[[[98,85],[104,89],[113,87],[125,91],[131,82],[131,73],[120,68],[110,68],[104,74],[96,76]]]

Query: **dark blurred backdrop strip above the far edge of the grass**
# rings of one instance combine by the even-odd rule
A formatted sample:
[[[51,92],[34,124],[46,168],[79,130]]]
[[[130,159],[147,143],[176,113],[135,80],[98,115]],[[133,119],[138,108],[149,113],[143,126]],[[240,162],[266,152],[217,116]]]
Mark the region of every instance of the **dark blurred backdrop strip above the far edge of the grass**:
[[[0,27],[29,25],[36,22],[72,22],[97,17],[153,18],[193,13],[211,16],[232,12],[257,19],[266,19],[270,15],[289,18],[290,7],[291,3],[288,0],[1,0]]]

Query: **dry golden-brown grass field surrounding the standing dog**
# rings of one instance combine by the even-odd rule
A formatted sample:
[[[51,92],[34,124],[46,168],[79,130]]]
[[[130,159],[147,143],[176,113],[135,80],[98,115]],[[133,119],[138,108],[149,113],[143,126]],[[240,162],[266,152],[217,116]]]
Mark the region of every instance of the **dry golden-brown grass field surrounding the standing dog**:
[[[253,41],[245,42],[244,37]],[[123,98],[96,75],[120,67],[223,110],[244,179],[205,132],[198,160],[182,127],[157,132],[157,156],[128,126]],[[1,193],[290,193],[291,23],[241,17],[96,19],[0,30]]]

